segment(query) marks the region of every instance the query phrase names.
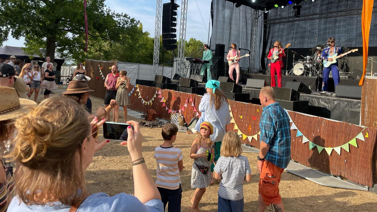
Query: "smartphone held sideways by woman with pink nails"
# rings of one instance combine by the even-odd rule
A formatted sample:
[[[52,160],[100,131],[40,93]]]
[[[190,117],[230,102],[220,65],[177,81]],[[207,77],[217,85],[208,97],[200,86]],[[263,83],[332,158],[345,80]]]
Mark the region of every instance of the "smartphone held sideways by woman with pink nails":
[[[118,123],[112,121],[106,121],[103,123],[103,137],[110,140],[127,141],[128,133],[127,127],[133,126],[126,123]]]

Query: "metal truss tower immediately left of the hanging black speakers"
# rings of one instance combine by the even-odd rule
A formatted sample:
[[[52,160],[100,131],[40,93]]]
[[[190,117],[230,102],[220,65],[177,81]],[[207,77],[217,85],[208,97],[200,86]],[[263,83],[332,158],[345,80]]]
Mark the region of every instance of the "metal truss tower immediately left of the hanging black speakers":
[[[158,74],[158,62],[160,53],[160,37],[161,37],[161,11],[162,0],[156,0],[156,22],[155,22],[155,45],[153,47],[153,76]]]

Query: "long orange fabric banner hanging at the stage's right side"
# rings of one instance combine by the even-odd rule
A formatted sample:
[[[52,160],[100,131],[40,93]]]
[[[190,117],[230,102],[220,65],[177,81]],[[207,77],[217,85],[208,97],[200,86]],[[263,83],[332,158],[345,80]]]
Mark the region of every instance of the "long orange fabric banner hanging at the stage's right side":
[[[368,42],[369,30],[371,29],[373,2],[374,0],[363,0],[363,12],[361,15],[361,26],[363,33],[363,76],[360,79],[359,85],[363,85],[366,65],[368,64]]]

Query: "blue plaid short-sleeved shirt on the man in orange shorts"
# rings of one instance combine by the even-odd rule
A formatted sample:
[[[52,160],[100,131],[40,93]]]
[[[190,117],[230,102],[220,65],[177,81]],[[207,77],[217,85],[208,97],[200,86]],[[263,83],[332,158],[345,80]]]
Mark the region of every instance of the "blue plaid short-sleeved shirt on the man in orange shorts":
[[[260,141],[270,145],[265,159],[280,168],[287,168],[291,158],[290,128],[287,112],[278,102],[263,108],[259,122]]]

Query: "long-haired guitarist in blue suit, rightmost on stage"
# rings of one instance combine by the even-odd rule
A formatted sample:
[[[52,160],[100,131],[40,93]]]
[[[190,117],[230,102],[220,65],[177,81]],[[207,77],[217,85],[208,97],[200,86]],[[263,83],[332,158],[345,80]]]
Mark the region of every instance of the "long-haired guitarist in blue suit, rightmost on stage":
[[[327,40],[327,44],[329,46],[327,48],[324,48],[322,50],[322,59],[325,61],[333,61],[333,58],[329,58],[333,56],[334,54],[337,53],[337,55],[342,54],[342,48],[339,46],[335,46],[335,38],[331,37]],[[340,57],[341,58],[341,57]],[[329,74],[333,74],[333,79],[334,79],[334,85],[339,85],[339,69],[338,69],[338,61],[335,63],[331,64],[329,67],[325,67],[323,69],[323,81],[322,81],[322,91],[328,91],[328,79],[329,79]]]

